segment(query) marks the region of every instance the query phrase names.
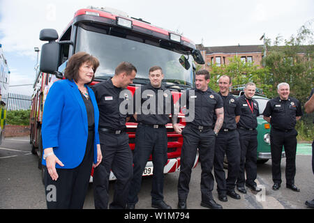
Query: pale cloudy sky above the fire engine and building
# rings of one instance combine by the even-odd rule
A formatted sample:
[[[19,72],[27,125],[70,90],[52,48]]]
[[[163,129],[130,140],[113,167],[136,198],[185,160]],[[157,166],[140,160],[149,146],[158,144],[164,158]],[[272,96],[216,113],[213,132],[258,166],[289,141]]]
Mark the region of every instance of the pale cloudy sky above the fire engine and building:
[[[156,26],[182,33],[205,47],[262,45],[265,33],[288,39],[304,24],[313,30],[313,0],[0,0],[0,43],[10,69],[10,92],[31,95],[41,29],[59,35],[76,10],[87,6],[122,10]]]

